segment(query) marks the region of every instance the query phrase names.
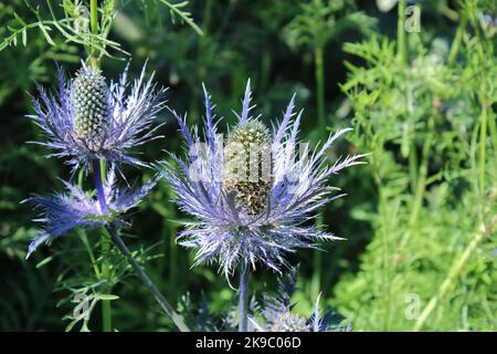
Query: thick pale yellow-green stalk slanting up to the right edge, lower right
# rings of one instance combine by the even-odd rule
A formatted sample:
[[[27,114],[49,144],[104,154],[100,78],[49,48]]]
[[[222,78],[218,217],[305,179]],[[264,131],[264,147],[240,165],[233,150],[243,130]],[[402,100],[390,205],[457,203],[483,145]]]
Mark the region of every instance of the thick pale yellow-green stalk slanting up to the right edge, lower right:
[[[467,260],[469,259],[469,256],[472,256],[473,251],[476,249],[476,247],[482,241],[482,239],[485,237],[485,235],[491,232],[496,221],[497,221],[497,216],[493,218],[493,220],[490,221],[490,223],[488,226],[485,226],[484,223],[482,223],[480,230],[478,230],[478,232],[475,233],[475,237],[473,238],[473,240],[469,242],[468,246],[466,246],[466,248],[463,251],[463,253],[461,254],[461,257],[451,267],[451,270],[450,270],[447,277],[443,281],[442,285],[438,288],[438,291],[436,292],[436,294],[432,299],[430,299],[426,308],[424,308],[420,317],[416,320],[413,331],[415,331],[415,332],[421,331],[421,329],[423,327],[427,317],[432,314],[433,310],[435,310],[438,302],[451,290],[452,284],[461,274],[464,266],[466,264]]]

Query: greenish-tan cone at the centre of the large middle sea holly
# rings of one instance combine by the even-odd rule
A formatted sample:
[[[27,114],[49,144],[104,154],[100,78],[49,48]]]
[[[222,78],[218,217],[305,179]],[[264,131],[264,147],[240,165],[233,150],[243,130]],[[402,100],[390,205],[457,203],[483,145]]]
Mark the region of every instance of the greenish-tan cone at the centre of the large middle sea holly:
[[[223,190],[235,192],[235,201],[248,215],[258,215],[271,190],[271,134],[258,121],[236,126],[228,137]]]

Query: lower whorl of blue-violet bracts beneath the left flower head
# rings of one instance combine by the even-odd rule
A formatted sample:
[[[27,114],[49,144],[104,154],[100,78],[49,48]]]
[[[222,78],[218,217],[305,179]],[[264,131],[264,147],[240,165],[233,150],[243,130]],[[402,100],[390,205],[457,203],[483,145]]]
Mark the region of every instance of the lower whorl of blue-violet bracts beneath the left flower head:
[[[126,225],[123,215],[138,205],[154,188],[157,178],[134,190],[123,190],[117,187],[115,176],[114,168],[112,168],[104,185],[105,199],[108,206],[106,212],[102,211],[101,205],[94,195],[85,192],[80,187],[64,180],[62,181],[66,190],[64,194],[25,199],[23,202],[41,209],[41,218],[34,221],[44,223],[44,227],[39,232],[39,237],[30,243],[27,258],[41,243],[63,236],[75,227],[92,229],[110,223]]]

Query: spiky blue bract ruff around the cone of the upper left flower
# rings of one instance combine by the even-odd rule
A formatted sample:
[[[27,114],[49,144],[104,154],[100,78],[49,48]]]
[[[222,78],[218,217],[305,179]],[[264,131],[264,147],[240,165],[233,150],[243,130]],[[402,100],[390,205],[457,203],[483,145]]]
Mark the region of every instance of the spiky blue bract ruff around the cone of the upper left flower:
[[[99,82],[95,93],[92,92],[94,88],[84,91],[87,95],[84,97],[87,98],[85,103],[81,97],[75,100],[80,90],[73,90],[74,82],[66,80],[63,70],[59,67],[59,90],[50,94],[39,86],[39,97],[33,98],[34,114],[28,117],[40,126],[46,137],[45,142],[34,143],[53,149],[47,156],[66,159],[73,171],[80,167],[88,169],[91,162],[99,158],[112,164],[144,166],[145,163],[131,156],[131,148],[160,137],[155,135],[159,125],[152,127],[152,119],[166,104],[166,90],[157,87],[154,74],[146,80],[145,70],[146,65],[140,76],[129,84],[127,65],[119,81],[112,82],[108,88],[105,87],[105,82]],[[83,64],[77,77],[103,76]],[[82,134],[82,126],[86,127],[92,122],[81,123],[81,118],[78,122],[76,118],[82,115],[81,110],[92,110],[95,103],[99,104],[99,108],[95,110],[99,110],[97,113],[104,117],[99,125],[105,126],[98,127],[101,134]]]

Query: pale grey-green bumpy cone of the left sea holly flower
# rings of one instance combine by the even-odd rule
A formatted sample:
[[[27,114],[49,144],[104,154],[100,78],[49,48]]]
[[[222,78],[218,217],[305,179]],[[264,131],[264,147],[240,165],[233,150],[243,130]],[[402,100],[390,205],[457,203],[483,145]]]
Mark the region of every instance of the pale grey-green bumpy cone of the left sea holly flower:
[[[73,81],[74,131],[88,143],[105,136],[108,124],[108,88],[105,77],[82,69]]]

